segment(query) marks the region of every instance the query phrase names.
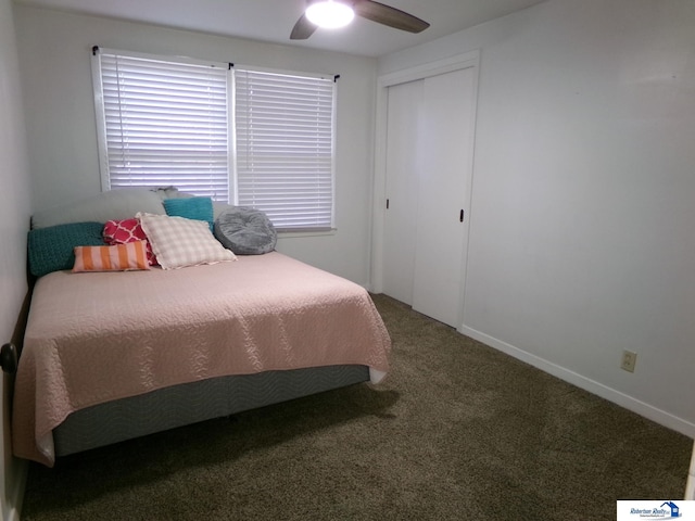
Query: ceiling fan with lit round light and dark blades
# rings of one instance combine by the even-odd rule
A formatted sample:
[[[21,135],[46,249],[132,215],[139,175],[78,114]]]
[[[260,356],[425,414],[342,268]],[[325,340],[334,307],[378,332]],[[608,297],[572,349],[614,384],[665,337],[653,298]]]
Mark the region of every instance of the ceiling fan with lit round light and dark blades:
[[[372,0],[319,0],[311,2],[306,12],[300,16],[290,39],[305,40],[318,27],[342,27],[355,15],[408,33],[420,33],[430,26],[400,9]]]

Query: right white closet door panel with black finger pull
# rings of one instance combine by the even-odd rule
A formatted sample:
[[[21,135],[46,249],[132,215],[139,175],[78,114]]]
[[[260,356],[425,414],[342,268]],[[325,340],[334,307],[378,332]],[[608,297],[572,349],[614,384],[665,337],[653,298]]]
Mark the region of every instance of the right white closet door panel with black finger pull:
[[[472,166],[473,68],[425,79],[413,308],[462,325]]]

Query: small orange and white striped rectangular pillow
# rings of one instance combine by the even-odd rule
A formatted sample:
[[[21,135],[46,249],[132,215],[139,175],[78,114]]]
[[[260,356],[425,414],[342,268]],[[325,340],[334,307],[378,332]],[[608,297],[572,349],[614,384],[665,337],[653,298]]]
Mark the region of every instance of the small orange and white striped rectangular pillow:
[[[147,241],[113,246],[75,246],[73,271],[125,271],[150,269]]]

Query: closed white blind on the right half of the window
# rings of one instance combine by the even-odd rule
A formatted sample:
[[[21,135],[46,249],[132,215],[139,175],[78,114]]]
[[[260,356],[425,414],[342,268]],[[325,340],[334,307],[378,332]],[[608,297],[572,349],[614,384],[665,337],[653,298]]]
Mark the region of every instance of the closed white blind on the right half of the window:
[[[333,227],[331,78],[236,69],[237,202],[283,230]]]

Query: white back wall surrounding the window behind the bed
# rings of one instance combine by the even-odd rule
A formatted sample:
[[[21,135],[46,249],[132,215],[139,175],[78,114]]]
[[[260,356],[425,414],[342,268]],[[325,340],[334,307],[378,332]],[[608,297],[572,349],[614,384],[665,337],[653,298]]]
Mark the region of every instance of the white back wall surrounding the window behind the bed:
[[[92,46],[340,74],[332,236],[278,250],[361,284],[369,280],[376,60],[15,5],[36,207],[100,191]]]

